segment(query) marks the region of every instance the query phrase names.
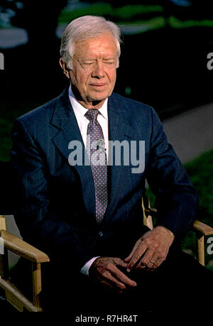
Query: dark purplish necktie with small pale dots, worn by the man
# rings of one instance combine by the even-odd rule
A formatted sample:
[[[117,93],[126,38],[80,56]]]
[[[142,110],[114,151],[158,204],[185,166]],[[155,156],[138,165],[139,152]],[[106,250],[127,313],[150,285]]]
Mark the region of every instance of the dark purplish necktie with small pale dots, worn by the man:
[[[87,153],[92,169],[95,190],[97,222],[102,222],[107,209],[107,155],[102,127],[97,121],[98,109],[89,109],[84,116],[89,119],[87,127]]]

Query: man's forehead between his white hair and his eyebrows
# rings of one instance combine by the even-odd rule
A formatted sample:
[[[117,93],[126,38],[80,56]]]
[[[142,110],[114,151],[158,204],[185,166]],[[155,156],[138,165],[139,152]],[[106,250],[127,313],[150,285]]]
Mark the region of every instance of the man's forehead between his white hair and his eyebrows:
[[[75,43],[75,55],[110,53],[116,55],[116,41],[111,33],[104,33],[94,38],[87,38]]]

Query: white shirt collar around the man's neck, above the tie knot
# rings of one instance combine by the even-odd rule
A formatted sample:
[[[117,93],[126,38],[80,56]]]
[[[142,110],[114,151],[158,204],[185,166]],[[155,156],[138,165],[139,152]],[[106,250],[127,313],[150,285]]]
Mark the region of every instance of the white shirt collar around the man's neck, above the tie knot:
[[[87,119],[84,114],[87,112],[88,109],[82,106],[80,102],[77,101],[75,98],[75,95],[72,92],[71,85],[68,90],[69,98],[70,98],[70,103],[72,105],[72,109],[75,113],[76,116],[80,116],[81,118]],[[104,104],[102,107],[99,109],[100,114],[108,121],[108,112],[107,112],[107,103],[108,103],[108,98],[105,99]]]

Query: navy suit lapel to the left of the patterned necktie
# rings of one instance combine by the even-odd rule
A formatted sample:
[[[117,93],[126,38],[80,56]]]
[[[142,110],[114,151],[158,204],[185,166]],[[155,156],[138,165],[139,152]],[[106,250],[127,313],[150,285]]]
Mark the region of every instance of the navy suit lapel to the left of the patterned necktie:
[[[68,87],[64,92],[62,92],[60,97],[58,97],[50,124],[58,129],[58,133],[53,137],[52,141],[62,155],[67,159],[67,164],[69,164],[68,157],[72,152],[72,150],[68,148],[70,141],[79,141],[82,144],[83,164],[72,165],[72,168],[75,168],[80,177],[86,209],[89,212],[89,215],[95,217],[95,197],[92,170],[89,165],[84,165],[84,143],[82,141],[80,129],[77,125],[75,113],[70,104]]]

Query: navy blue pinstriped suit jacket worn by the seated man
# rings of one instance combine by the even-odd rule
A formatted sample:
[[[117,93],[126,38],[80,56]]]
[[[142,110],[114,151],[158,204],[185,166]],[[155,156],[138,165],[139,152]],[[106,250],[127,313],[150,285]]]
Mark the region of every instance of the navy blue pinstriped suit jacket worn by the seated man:
[[[112,94],[108,114],[109,140],[145,141],[146,156],[143,173],[132,173],[131,165],[109,166],[109,205],[100,226],[95,219],[91,168],[68,163],[70,141],[84,145],[67,88],[19,117],[13,126],[15,219],[21,235],[50,259],[72,256],[76,271],[93,256],[126,256],[146,232],[141,210],[145,180],[156,196],[157,223],[176,239],[184,237],[195,218],[195,189],[155,111]]]

